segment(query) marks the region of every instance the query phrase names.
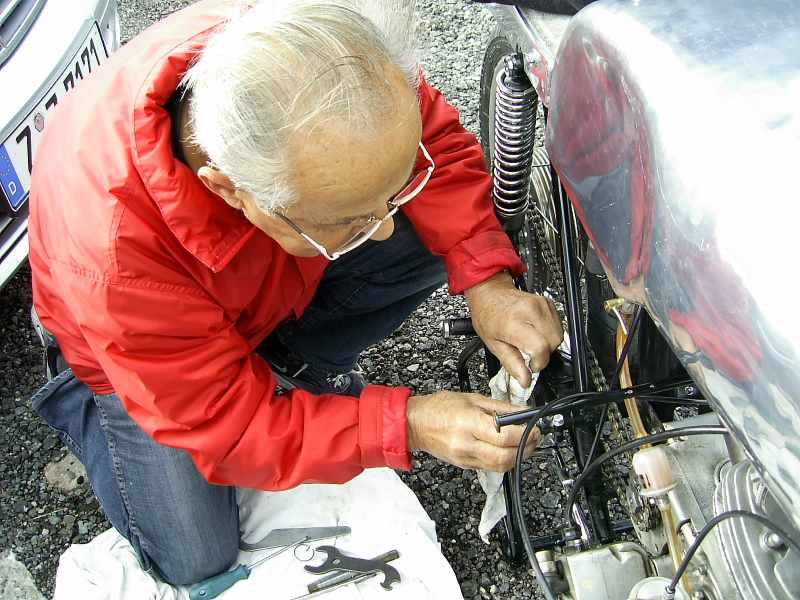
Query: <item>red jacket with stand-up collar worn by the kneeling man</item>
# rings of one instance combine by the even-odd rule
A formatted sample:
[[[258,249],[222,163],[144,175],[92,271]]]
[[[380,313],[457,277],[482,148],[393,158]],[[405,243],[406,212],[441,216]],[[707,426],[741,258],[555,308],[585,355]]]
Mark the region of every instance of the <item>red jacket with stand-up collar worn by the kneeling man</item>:
[[[156,24],[59,103],[30,196],[34,304],[75,374],[117,393],[212,483],[284,489],[407,469],[407,388],[274,394],[253,350],[303,313],[327,261],[286,254],[173,156],[162,106],[227,4]],[[406,214],[445,257],[452,293],[519,272],[475,138],[438,91],[419,95],[437,169]]]

